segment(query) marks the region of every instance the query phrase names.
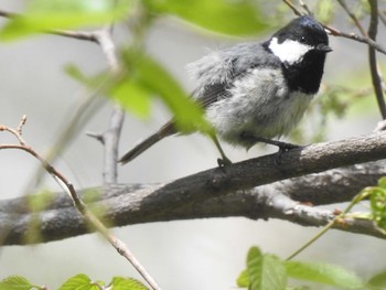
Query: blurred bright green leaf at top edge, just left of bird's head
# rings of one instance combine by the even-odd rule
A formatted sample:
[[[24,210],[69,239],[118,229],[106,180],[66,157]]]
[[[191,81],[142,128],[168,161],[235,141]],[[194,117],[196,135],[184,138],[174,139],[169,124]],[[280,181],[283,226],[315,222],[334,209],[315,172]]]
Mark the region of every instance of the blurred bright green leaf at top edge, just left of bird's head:
[[[147,0],[157,13],[176,15],[201,28],[234,35],[256,34],[270,28],[270,20],[255,0]]]

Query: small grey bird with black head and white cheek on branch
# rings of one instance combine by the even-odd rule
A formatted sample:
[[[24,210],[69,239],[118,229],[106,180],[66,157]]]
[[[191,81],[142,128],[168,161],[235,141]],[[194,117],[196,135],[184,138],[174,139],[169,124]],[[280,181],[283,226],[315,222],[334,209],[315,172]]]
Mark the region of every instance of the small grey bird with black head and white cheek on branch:
[[[300,121],[319,90],[331,51],[323,26],[310,15],[299,17],[266,42],[237,44],[190,64],[199,82],[192,97],[216,136],[229,144],[249,149],[264,142],[289,150],[297,146],[271,139],[286,136]],[[129,162],[175,133],[170,120],[119,162]],[[230,163],[216,136],[212,139],[222,155],[218,164]]]

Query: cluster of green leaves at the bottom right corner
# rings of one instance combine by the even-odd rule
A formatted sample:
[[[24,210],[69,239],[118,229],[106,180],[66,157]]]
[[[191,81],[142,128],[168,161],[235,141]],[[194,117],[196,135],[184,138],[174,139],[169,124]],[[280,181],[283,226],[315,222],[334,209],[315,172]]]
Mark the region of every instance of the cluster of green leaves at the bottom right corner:
[[[251,247],[247,255],[247,269],[242,271],[237,286],[249,290],[302,290],[313,289],[310,284],[290,286],[290,282],[312,282],[337,289],[372,289],[386,287],[386,271],[376,273],[367,281],[337,265],[299,260],[282,260],[271,254],[264,254]]]

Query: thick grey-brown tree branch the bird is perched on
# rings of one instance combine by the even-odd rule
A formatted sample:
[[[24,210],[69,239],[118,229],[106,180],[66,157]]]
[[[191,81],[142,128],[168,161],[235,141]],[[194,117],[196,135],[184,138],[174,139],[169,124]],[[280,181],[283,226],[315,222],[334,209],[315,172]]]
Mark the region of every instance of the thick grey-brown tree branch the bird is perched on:
[[[376,184],[377,179],[386,173],[385,162],[351,164],[385,159],[386,132],[286,152],[280,169],[275,165],[276,158],[276,154],[265,155],[168,184],[111,185],[94,193],[84,192],[83,198],[88,200],[92,210],[99,208],[94,212],[114,226],[221,216],[282,218],[321,226],[334,217],[333,212],[298,202],[318,205],[350,201],[364,186]],[[333,169],[344,165],[351,167]],[[317,173],[324,170],[329,171]],[[94,200],[90,198],[93,195]],[[2,201],[0,233],[9,230],[3,237],[4,244],[25,243],[23,236],[33,216],[25,200]],[[89,230],[72,201],[64,195],[57,195],[39,213],[39,218],[43,241]],[[341,229],[380,236],[371,223],[363,221],[345,221]]]

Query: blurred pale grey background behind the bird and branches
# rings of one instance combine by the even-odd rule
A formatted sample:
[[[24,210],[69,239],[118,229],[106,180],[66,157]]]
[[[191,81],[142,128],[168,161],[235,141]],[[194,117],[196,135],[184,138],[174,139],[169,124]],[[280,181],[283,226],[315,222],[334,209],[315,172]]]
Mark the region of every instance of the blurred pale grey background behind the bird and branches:
[[[23,1],[2,0],[1,10],[20,11]],[[334,24],[344,31],[355,31],[346,15]],[[287,19],[293,17],[287,9]],[[0,19],[0,24],[6,23]],[[124,30],[117,30],[118,42],[127,40]],[[385,40],[382,28],[379,37]],[[258,39],[265,40],[266,36]],[[183,85],[186,92],[194,88],[185,65],[208,53],[247,39],[230,39],[164,19],[153,25],[146,39],[147,49]],[[250,39],[248,39],[250,40]],[[367,47],[356,42],[330,37],[333,52],[328,55],[325,85],[351,85],[362,82],[371,88],[367,68]],[[379,41],[382,42],[382,41]],[[384,56],[379,56],[385,64]],[[82,85],[68,77],[63,67],[76,64],[85,73],[106,68],[100,49],[90,42],[54,35],[37,35],[18,42],[0,43],[0,123],[17,127],[22,115],[28,116],[24,139],[39,152],[46,152],[57,138],[68,116],[76,108]],[[372,97],[356,101],[344,118],[330,118],[326,140],[343,139],[372,131],[380,120]],[[84,132],[64,151],[57,169],[68,176],[77,189],[103,183],[103,148],[86,132],[101,132],[109,121],[111,106],[106,105],[86,125]],[[162,104],[154,103],[151,118],[141,120],[126,117],[120,152],[158,129],[170,117]],[[305,127],[312,121],[305,119]],[[7,133],[0,142],[10,142]],[[269,147],[255,147],[248,152],[225,146],[233,161],[245,160],[275,151]],[[210,140],[200,135],[167,138],[126,167],[119,168],[119,182],[168,182],[187,174],[216,167],[217,151]],[[11,150],[0,151],[1,198],[23,194],[37,163],[29,155]],[[45,186],[60,189],[47,179]],[[339,207],[342,205],[336,205]],[[245,268],[247,250],[259,246],[261,250],[287,257],[318,229],[281,221],[249,221],[246,218],[211,218],[115,228],[156,278],[161,288],[169,290],[235,289],[236,278]],[[330,230],[299,256],[303,260],[340,264],[369,277],[386,268],[379,253],[386,251],[380,239]],[[365,258],[364,258],[365,257]],[[364,262],[368,261],[368,262]],[[66,279],[86,273],[109,281],[114,276],[138,277],[131,266],[116,254],[97,234],[84,235],[36,246],[0,248],[0,278],[21,275],[33,283],[56,289]],[[328,289],[318,286],[318,289]]]

